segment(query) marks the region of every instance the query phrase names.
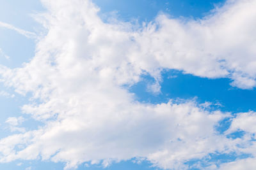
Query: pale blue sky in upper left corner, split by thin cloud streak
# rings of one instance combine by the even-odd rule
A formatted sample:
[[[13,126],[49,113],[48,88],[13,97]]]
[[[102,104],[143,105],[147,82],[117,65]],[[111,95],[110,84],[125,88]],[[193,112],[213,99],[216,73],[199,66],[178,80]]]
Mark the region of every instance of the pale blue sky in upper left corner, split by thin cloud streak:
[[[0,22],[10,24],[24,31],[36,32],[42,25],[36,22],[33,15],[44,11],[40,1],[5,1],[0,0]],[[0,64],[8,67],[20,67],[35,54],[35,39],[26,38],[16,31],[0,26],[0,48],[10,57],[0,56]]]

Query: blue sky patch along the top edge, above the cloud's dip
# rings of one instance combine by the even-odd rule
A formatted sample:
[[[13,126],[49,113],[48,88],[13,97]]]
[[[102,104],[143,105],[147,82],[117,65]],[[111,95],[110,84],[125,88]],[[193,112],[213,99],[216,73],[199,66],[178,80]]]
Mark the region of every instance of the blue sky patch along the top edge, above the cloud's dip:
[[[115,13],[124,21],[138,20],[150,22],[157,14],[166,13],[172,17],[202,18],[215,6],[221,6],[223,0],[92,0],[100,8],[100,16],[106,18]]]

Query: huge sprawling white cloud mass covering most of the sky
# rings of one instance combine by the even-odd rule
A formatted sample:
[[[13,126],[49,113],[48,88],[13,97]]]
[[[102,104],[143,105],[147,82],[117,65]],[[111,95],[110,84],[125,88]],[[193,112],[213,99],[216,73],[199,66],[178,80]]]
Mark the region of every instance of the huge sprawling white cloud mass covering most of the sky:
[[[256,1],[228,1],[202,20],[159,15],[139,29],[129,22],[102,22],[92,1],[42,4],[47,11],[36,19],[45,33],[36,41],[35,57],[19,68],[1,66],[0,73],[6,86],[33,94],[22,111],[44,125],[1,139],[1,162],[52,160],[68,169],[137,158],[164,169],[188,169],[186,162],[210,153],[255,156],[255,113],[232,117],[195,101],[143,104],[125,87],[148,73],[157,92],[163,69],[255,87]],[[227,117],[232,124],[221,134],[216,127]],[[236,131],[245,134],[228,137]],[[250,162],[255,167],[252,159],[220,168]]]

